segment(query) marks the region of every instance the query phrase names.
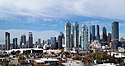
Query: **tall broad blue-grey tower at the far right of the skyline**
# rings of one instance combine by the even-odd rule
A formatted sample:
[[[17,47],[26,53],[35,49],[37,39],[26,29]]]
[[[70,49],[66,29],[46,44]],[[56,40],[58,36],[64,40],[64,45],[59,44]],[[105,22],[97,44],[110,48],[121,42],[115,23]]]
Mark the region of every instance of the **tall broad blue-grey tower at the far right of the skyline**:
[[[119,22],[112,23],[112,48],[116,49],[119,42]]]

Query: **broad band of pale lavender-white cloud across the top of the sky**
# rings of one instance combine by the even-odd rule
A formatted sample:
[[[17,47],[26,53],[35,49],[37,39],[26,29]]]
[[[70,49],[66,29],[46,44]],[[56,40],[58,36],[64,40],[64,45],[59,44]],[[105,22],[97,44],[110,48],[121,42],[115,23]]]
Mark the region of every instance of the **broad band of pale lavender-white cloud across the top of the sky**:
[[[0,0],[0,15],[125,18],[125,0]],[[9,16],[11,17],[11,16]]]

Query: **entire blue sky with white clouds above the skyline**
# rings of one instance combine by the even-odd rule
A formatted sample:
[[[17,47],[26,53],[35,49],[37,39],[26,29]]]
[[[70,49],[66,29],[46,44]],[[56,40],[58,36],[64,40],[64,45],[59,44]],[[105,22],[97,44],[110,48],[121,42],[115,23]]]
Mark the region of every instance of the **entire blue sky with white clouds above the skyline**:
[[[34,41],[46,40],[64,32],[67,21],[88,27],[105,26],[111,32],[114,21],[120,23],[120,37],[125,38],[125,0],[0,0],[0,44],[5,32],[12,38],[33,32]]]

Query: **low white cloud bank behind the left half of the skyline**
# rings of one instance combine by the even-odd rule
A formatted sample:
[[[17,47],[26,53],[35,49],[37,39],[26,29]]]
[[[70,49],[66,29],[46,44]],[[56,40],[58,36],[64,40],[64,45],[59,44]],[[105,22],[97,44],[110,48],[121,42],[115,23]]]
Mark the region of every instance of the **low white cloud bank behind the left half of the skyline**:
[[[21,35],[25,34],[27,36],[27,40],[28,40],[28,33],[32,32],[33,33],[33,39],[34,42],[38,40],[38,38],[41,38],[41,40],[47,40],[50,37],[57,37],[59,35],[59,31],[54,31],[54,30],[50,30],[50,31],[30,31],[30,30],[17,30],[17,29],[10,29],[10,30],[0,30],[0,44],[4,44],[4,34],[5,32],[9,32],[11,34],[11,43],[12,43],[12,39],[13,38],[18,38],[18,43],[20,40]]]

